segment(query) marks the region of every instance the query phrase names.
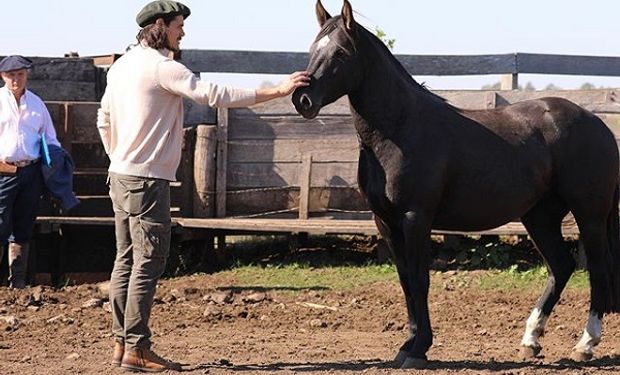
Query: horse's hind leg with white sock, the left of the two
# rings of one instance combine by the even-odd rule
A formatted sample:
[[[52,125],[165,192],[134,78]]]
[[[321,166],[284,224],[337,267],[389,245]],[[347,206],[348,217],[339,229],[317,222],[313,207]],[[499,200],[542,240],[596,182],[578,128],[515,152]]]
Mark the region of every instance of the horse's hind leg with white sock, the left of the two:
[[[547,286],[527,319],[521,340],[524,359],[535,357],[542,349],[538,339],[544,334],[545,323],[575,270],[575,260],[562,237],[562,219],[567,213],[559,197],[547,196],[521,218],[549,270]]]

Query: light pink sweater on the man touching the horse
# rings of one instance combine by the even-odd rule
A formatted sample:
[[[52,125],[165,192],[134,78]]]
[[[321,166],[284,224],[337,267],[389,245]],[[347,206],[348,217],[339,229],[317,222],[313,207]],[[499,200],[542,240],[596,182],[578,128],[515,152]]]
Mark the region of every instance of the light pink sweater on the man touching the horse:
[[[174,181],[183,138],[183,97],[211,107],[246,107],[254,90],[201,81],[167,50],[138,45],[108,72],[97,128],[109,171]]]

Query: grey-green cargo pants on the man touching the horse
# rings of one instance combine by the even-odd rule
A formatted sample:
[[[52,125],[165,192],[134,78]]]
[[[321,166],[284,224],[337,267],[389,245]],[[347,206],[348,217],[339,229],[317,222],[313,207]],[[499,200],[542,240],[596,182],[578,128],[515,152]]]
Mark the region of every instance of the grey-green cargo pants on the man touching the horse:
[[[149,317],[170,252],[170,183],[109,174],[116,260],[110,280],[112,332],[127,348],[150,348]]]

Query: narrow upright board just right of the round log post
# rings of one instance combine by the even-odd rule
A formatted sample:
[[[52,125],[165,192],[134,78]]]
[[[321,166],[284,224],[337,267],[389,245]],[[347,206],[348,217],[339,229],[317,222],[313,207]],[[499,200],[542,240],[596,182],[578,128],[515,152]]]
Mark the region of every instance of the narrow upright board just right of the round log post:
[[[226,216],[226,190],[228,189],[228,109],[217,111],[217,175],[215,177],[215,209],[217,217]]]

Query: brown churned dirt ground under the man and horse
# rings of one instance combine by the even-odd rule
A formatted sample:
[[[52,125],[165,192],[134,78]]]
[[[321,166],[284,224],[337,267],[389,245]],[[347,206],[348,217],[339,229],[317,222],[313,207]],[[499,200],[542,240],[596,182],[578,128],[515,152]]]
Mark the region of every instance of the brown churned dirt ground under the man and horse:
[[[433,282],[453,275],[435,275]],[[190,374],[406,373],[391,367],[406,336],[396,281],[300,293],[235,284],[222,274],[163,280],[151,320],[154,350],[187,364]],[[541,356],[519,360],[524,321],[538,293],[434,288],[429,368],[407,373],[620,374],[620,360],[611,355],[620,344],[617,316],[606,317],[594,360],[567,359],[587,318],[587,291],[565,292],[547,325]],[[109,364],[104,302],[95,284],[0,288],[0,373],[125,373]]]

